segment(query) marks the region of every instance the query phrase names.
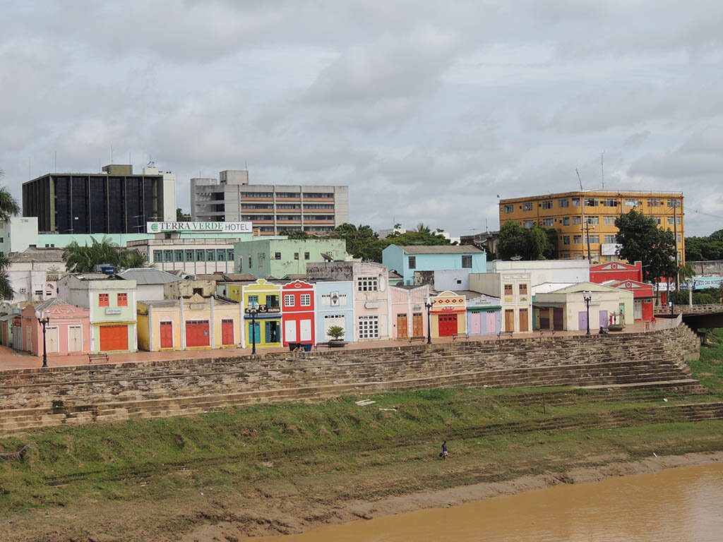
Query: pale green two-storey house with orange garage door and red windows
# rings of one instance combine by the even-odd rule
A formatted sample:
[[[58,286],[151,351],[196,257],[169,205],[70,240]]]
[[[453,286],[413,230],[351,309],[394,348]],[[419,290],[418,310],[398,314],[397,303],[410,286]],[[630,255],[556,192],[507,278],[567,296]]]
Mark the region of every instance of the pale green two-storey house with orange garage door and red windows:
[[[90,309],[90,352],[138,350],[136,281],[113,275],[67,275],[58,282],[61,299]]]

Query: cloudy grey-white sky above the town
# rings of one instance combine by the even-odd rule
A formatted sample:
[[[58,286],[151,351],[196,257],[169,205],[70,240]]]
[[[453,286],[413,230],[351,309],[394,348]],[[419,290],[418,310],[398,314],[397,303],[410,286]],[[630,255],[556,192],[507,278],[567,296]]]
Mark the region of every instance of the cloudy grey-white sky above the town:
[[[683,190],[723,228],[723,2],[4,1],[0,168],[248,165],[351,220],[497,228],[497,194]],[[601,154],[604,152],[604,176]]]

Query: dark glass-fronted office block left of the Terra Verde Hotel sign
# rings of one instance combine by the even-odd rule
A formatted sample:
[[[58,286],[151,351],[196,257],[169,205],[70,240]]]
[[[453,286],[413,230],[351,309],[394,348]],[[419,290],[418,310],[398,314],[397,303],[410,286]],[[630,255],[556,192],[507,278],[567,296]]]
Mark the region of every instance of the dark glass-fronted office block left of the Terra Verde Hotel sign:
[[[131,165],[103,173],[48,173],[22,185],[22,215],[51,233],[142,233],[163,220],[163,175],[134,175]]]

